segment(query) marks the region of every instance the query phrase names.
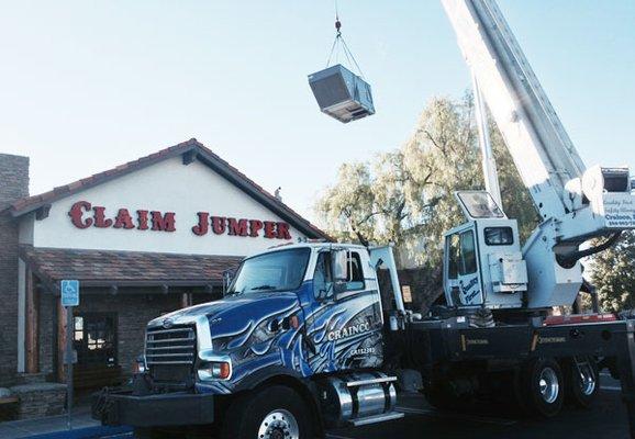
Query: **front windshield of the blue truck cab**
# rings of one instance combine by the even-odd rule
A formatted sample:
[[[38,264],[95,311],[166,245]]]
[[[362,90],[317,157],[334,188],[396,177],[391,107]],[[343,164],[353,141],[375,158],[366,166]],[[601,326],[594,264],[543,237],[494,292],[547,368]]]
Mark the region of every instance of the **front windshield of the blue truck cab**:
[[[245,259],[227,294],[296,290],[302,283],[311,250],[293,248]]]

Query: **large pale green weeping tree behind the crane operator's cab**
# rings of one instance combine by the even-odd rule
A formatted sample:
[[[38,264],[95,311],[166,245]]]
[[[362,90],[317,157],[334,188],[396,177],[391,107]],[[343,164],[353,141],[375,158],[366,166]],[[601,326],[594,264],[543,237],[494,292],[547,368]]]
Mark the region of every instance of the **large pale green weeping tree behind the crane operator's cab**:
[[[519,218],[522,236],[533,229],[536,213],[503,139],[490,127],[503,205]],[[480,151],[470,94],[459,101],[433,99],[411,138],[400,149],[370,164],[344,164],[337,182],[315,205],[323,226],[342,240],[394,243],[398,255],[436,267],[443,234],[464,222],[453,195],[482,189]]]

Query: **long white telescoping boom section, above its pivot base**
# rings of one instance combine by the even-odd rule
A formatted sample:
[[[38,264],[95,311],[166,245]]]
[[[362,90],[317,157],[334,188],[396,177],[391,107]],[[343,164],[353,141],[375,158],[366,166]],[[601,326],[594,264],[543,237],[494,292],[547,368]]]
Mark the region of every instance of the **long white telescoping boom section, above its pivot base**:
[[[566,212],[586,167],[493,0],[442,0],[514,164],[543,218]]]

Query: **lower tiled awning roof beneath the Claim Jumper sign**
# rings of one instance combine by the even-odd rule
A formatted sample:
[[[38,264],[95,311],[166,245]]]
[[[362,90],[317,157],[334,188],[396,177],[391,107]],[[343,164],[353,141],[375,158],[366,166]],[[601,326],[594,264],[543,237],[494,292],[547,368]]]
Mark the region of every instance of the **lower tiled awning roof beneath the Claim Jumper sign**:
[[[77,279],[85,286],[219,285],[223,271],[238,267],[236,256],[176,255],[144,251],[34,248],[20,257],[48,285]]]

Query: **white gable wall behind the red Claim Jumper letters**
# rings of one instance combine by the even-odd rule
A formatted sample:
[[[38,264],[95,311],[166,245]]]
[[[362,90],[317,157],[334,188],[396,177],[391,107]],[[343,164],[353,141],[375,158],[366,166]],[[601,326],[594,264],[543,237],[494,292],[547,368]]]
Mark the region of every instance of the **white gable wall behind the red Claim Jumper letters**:
[[[135,226],[136,211],[175,212],[176,232],[140,230],[137,228],[77,228],[68,215],[78,201],[104,206],[105,216],[114,219],[119,209],[127,209]],[[181,157],[166,159],[94,188],[75,193],[53,203],[47,218],[34,221],[32,236],[24,226],[23,241],[35,247],[155,251],[193,255],[248,256],[270,246],[297,241],[303,234],[290,227],[290,240],[264,237],[215,235],[210,230],[197,236],[191,227],[198,224],[198,212],[210,216],[283,222],[241,189],[194,161],[182,165]],[[92,212],[83,218],[92,217]],[[30,222],[25,217],[25,222]],[[151,223],[152,226],[152,223]]]

